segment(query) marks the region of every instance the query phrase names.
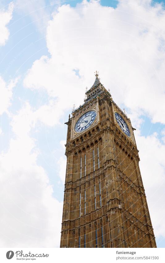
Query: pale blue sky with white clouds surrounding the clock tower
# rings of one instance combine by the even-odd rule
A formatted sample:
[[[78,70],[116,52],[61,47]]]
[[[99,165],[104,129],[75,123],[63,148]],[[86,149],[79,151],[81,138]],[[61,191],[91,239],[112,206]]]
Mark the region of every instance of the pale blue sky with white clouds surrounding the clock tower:
[[[59,247],[68,116],[95,70],[131,119],[165,247],[165,1],[0,0],[0,246]]]

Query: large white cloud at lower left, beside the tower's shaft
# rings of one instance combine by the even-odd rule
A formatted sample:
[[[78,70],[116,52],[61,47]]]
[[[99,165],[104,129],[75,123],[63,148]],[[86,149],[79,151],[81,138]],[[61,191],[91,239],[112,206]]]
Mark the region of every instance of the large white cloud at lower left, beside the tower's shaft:
[[[35,125],[27,103],[12,119],[10,147],[0,155],[1,247],[58,247],[62,203],[37,165],[38,149],[29,135]]]

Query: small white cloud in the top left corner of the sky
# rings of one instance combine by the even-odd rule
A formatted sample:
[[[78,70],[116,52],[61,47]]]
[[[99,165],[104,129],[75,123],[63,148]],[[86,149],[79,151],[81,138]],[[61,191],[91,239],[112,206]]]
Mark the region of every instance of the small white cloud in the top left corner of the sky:
[[[13,12],[14,4],[11,2],[8,5],[8,9],[0,10],[0,46],[4,46],[6,43],[6,40],[9,38],[9,30],[6,27],[7,24],[9,24],[10,20],[12,19],[12,12]]]

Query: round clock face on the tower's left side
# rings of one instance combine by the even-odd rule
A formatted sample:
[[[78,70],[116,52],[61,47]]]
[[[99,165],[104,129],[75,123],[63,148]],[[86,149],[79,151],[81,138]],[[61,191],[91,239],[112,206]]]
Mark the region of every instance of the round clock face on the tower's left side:
[[[75,125],[75,132],[83,132],[86,129],[88,129],[92,123],[95,121],[96,118],[96,112],[90,111],[86,112],[84,115],[82,115]]]

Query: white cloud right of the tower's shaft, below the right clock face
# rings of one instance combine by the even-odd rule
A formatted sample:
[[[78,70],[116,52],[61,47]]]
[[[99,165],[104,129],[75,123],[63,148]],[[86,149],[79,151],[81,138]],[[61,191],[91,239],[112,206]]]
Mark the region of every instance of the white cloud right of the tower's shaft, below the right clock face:
[[[140,156],[140,169],[147,203],[156,238],[165,236],[162,228],[165,219],[164,188],[165,188],[165,144],[162,144],[156,133],[147,136],[136,136]]]

